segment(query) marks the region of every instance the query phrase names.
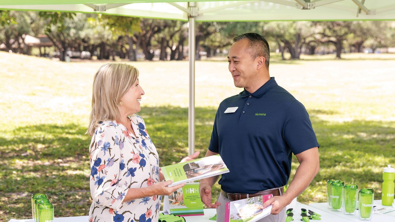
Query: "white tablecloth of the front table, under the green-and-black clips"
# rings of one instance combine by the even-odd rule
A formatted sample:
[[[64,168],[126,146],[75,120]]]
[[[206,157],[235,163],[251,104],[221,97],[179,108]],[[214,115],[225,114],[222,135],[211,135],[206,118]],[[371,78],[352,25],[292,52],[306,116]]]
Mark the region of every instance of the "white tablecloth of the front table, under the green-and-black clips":
[[[320,203],[321,204],[321,203]],[[323,203],[326,204],[326,203]],[[337,212],[326,211],[325,209],[318,209],[310,206],[296,202],[295,206],[288,205],[287,208],[293,207],[293,221],[298,222],[301,220],[301,208],[305,208],[307,210],[312,210],[320,215],[322,220],[310,220],[311,222],[349,222],[350,220],[342,217],[341,215],[333,214]],[[326,207],[326,205],[325,205]],[[210,217],[214,216],[216,213],[215,209],[204,209],[204,216],[186,216],[186,222],[213,222],[213,220],[209,220]],[[347,216],[347,215],[344,215]],[[373,218],[376,218],[377,215],[374,215]],[[380,215],[381,216],[381,215]],[[394,222],[395,218],[391,218],[392,220],[381,220],[380,222]],[[25,220],[15,220],[11,219],[9,222],[33,222],[32,219],[25,219]],[[54,219],[54,222],[88,222],[88,216],[72,216],[72,217],[58,217]]]

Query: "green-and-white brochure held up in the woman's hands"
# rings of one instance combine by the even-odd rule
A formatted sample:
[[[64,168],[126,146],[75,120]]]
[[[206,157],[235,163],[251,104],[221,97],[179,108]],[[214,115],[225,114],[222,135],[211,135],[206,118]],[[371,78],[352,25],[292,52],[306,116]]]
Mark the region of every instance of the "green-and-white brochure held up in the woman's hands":
[[[161,168],[165,180],[173,180],[169,187],[229,172],[219,154]]]

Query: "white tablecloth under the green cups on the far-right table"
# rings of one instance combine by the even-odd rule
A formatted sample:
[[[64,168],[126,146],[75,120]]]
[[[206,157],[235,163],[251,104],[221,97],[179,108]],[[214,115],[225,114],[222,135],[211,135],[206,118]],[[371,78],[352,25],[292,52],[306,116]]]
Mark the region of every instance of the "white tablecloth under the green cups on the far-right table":
[[[376,206],[373,208],[373,210],[378,210],[383,207],[388,207],[388,206],[381,205],[381,200],[374,200],[373,205]],[[315,208],[315,209],[317,209],[318,212],[325,211],[327,213],[331,213],[332,215],[342,218],[341,221],[355,221],[355,222],[362,221],[362,220],[359,220],[359,212],[358,211],[355,211],[355,215],[345,215],[343,211],[335,212],[335,211],[331,211],[330,209],[328,209],[326,202],[325,203],[310,203],[309,206],[312,211],[314,211],[313,208]],[[395,216],[386,216],[386,215],[379,215],[379,214],[374,213],[372,216],[371,222],[395,222]]]

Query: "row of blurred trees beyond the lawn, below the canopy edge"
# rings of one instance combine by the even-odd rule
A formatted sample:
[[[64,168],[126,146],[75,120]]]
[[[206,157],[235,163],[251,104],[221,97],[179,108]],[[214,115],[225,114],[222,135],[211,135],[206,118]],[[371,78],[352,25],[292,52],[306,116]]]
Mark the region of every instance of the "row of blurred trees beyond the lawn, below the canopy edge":
[[[0,50],[28,54],[25,37],[45,34],[64,61],[67,51],[97,59],[182,60],[188,54],[188,23],[102,14],[1,11]],[[196,59],[227,53],[235,35],[256,32],[271,50],[304,54],[362,52],[395,45],[393,21],[197,22]],[[41,52],[41,51],[40,51]],[[41,54],[41,53],[40,53]]]

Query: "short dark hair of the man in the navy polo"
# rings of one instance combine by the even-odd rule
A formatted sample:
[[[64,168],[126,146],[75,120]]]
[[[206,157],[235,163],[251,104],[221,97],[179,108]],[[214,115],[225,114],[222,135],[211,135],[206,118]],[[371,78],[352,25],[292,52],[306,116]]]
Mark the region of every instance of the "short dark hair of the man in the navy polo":
[[[269,69],[270,51],[269,43],[267,43],[266,39],[260,34],[250,32],[235,36],[233,38],[233,42],[237,42],[242,39],[247,39],[250,43],[250,47],[247,50],[252,59],[255,59],[258,56],[263,56],[265,58],[266,68]]]

